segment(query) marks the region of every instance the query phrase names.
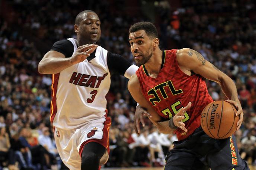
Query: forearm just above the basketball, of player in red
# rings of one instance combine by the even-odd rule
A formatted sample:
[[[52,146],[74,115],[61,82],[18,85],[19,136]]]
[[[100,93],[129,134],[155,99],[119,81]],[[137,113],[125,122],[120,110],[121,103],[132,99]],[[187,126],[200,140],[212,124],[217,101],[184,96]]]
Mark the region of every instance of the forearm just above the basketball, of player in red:
[[[225,75],[220,81],[220,86],[228,99],[239,102],[237,88],[231,78]]]

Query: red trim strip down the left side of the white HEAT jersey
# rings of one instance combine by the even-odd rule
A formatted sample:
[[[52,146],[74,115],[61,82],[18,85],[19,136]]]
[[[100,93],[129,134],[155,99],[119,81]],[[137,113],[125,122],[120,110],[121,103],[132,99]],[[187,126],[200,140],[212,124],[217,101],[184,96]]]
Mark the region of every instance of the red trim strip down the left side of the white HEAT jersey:
[[[56,94],[57,94],[57,88],[58,88],[58,81],[59,81],[60,73],[53,74],[52,75],[52,101],[51,101],[51,116],[50,116],[50,121],[51,123],[54,120],[54,117],[57,113],[57,104],[56,104]]]

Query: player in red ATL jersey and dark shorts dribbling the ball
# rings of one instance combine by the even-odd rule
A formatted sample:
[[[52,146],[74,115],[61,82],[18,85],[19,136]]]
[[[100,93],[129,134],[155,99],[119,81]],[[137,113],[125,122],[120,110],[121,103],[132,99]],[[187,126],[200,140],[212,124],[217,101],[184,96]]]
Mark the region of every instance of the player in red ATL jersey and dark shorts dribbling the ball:
[[[249,169],[239,155],[234,135],[216,140],[206,135],[200,125],[202,109],[213,101],[203,80],[207,78],[220,84],[230,99],[227,101],[237,107],[240,128],[243,111],[232,79],[195,50],[161,51],[156,27],[150,22],[132,25],[129,43],[135,61],[141,65],[128,82],[132,97],[150,113],[149,119],[161,133],[176,133],[179,139],[167,153],[164,169]],[[135,127],[139,118],[135,115]]]

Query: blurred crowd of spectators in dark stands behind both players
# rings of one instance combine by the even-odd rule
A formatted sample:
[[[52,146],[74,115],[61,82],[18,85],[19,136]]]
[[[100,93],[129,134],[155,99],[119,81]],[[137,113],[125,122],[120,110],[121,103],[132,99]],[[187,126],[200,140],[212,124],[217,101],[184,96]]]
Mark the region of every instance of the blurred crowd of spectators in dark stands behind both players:
[[[102,36],[98,44],[132,63],[129,26],[138,21],[151,21],[159,31],[161,49],[195,49],[230,76],[244,109],[243,125],[236,132],[237,144],[242,157],[251,167],[255,166],[255,5],[253,0],[0,0],[0,137],[5,136],[2,129],[6,127],[11,141],[23,137],[38,145],[42,144],[40,135],[52,139],[51,75],[39,74],[37,65],[54,42],[75,37],[76,15],[91,9],[101,20]],[[113,75],[106,96],[112,118],[112,149],[106,167],[161,166],[162,152],[155,153],[157,161],[153,163],[150,146],[158,143],[166,153],[175,136],[164,136],[168,139],[165,144],[154,138],[148,143],[147,136],[157,133],[147,119],[144,136],[132,135],[136,103],[127,91],[127,81]],[[214,100],[225,99],[219,85],[206,82]],[[56,162],[48,163],[53,169],[61,164],[56,157],[58,166]],[[40,167],[35,157],[32,161]],[[0,157],[0,166],[8,166],[6,157]]]

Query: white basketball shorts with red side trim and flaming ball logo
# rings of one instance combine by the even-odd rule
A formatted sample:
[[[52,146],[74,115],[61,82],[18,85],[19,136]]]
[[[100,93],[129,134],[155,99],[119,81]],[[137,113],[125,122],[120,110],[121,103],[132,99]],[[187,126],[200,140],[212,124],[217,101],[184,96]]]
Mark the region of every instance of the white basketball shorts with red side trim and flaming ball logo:
[[[111,119],[104,117],[71,130],[55,127],[54,139],[63,163],[71,170],[81,169],[83,147],[89,142],[101,144],[109,153],[110,125]]]

